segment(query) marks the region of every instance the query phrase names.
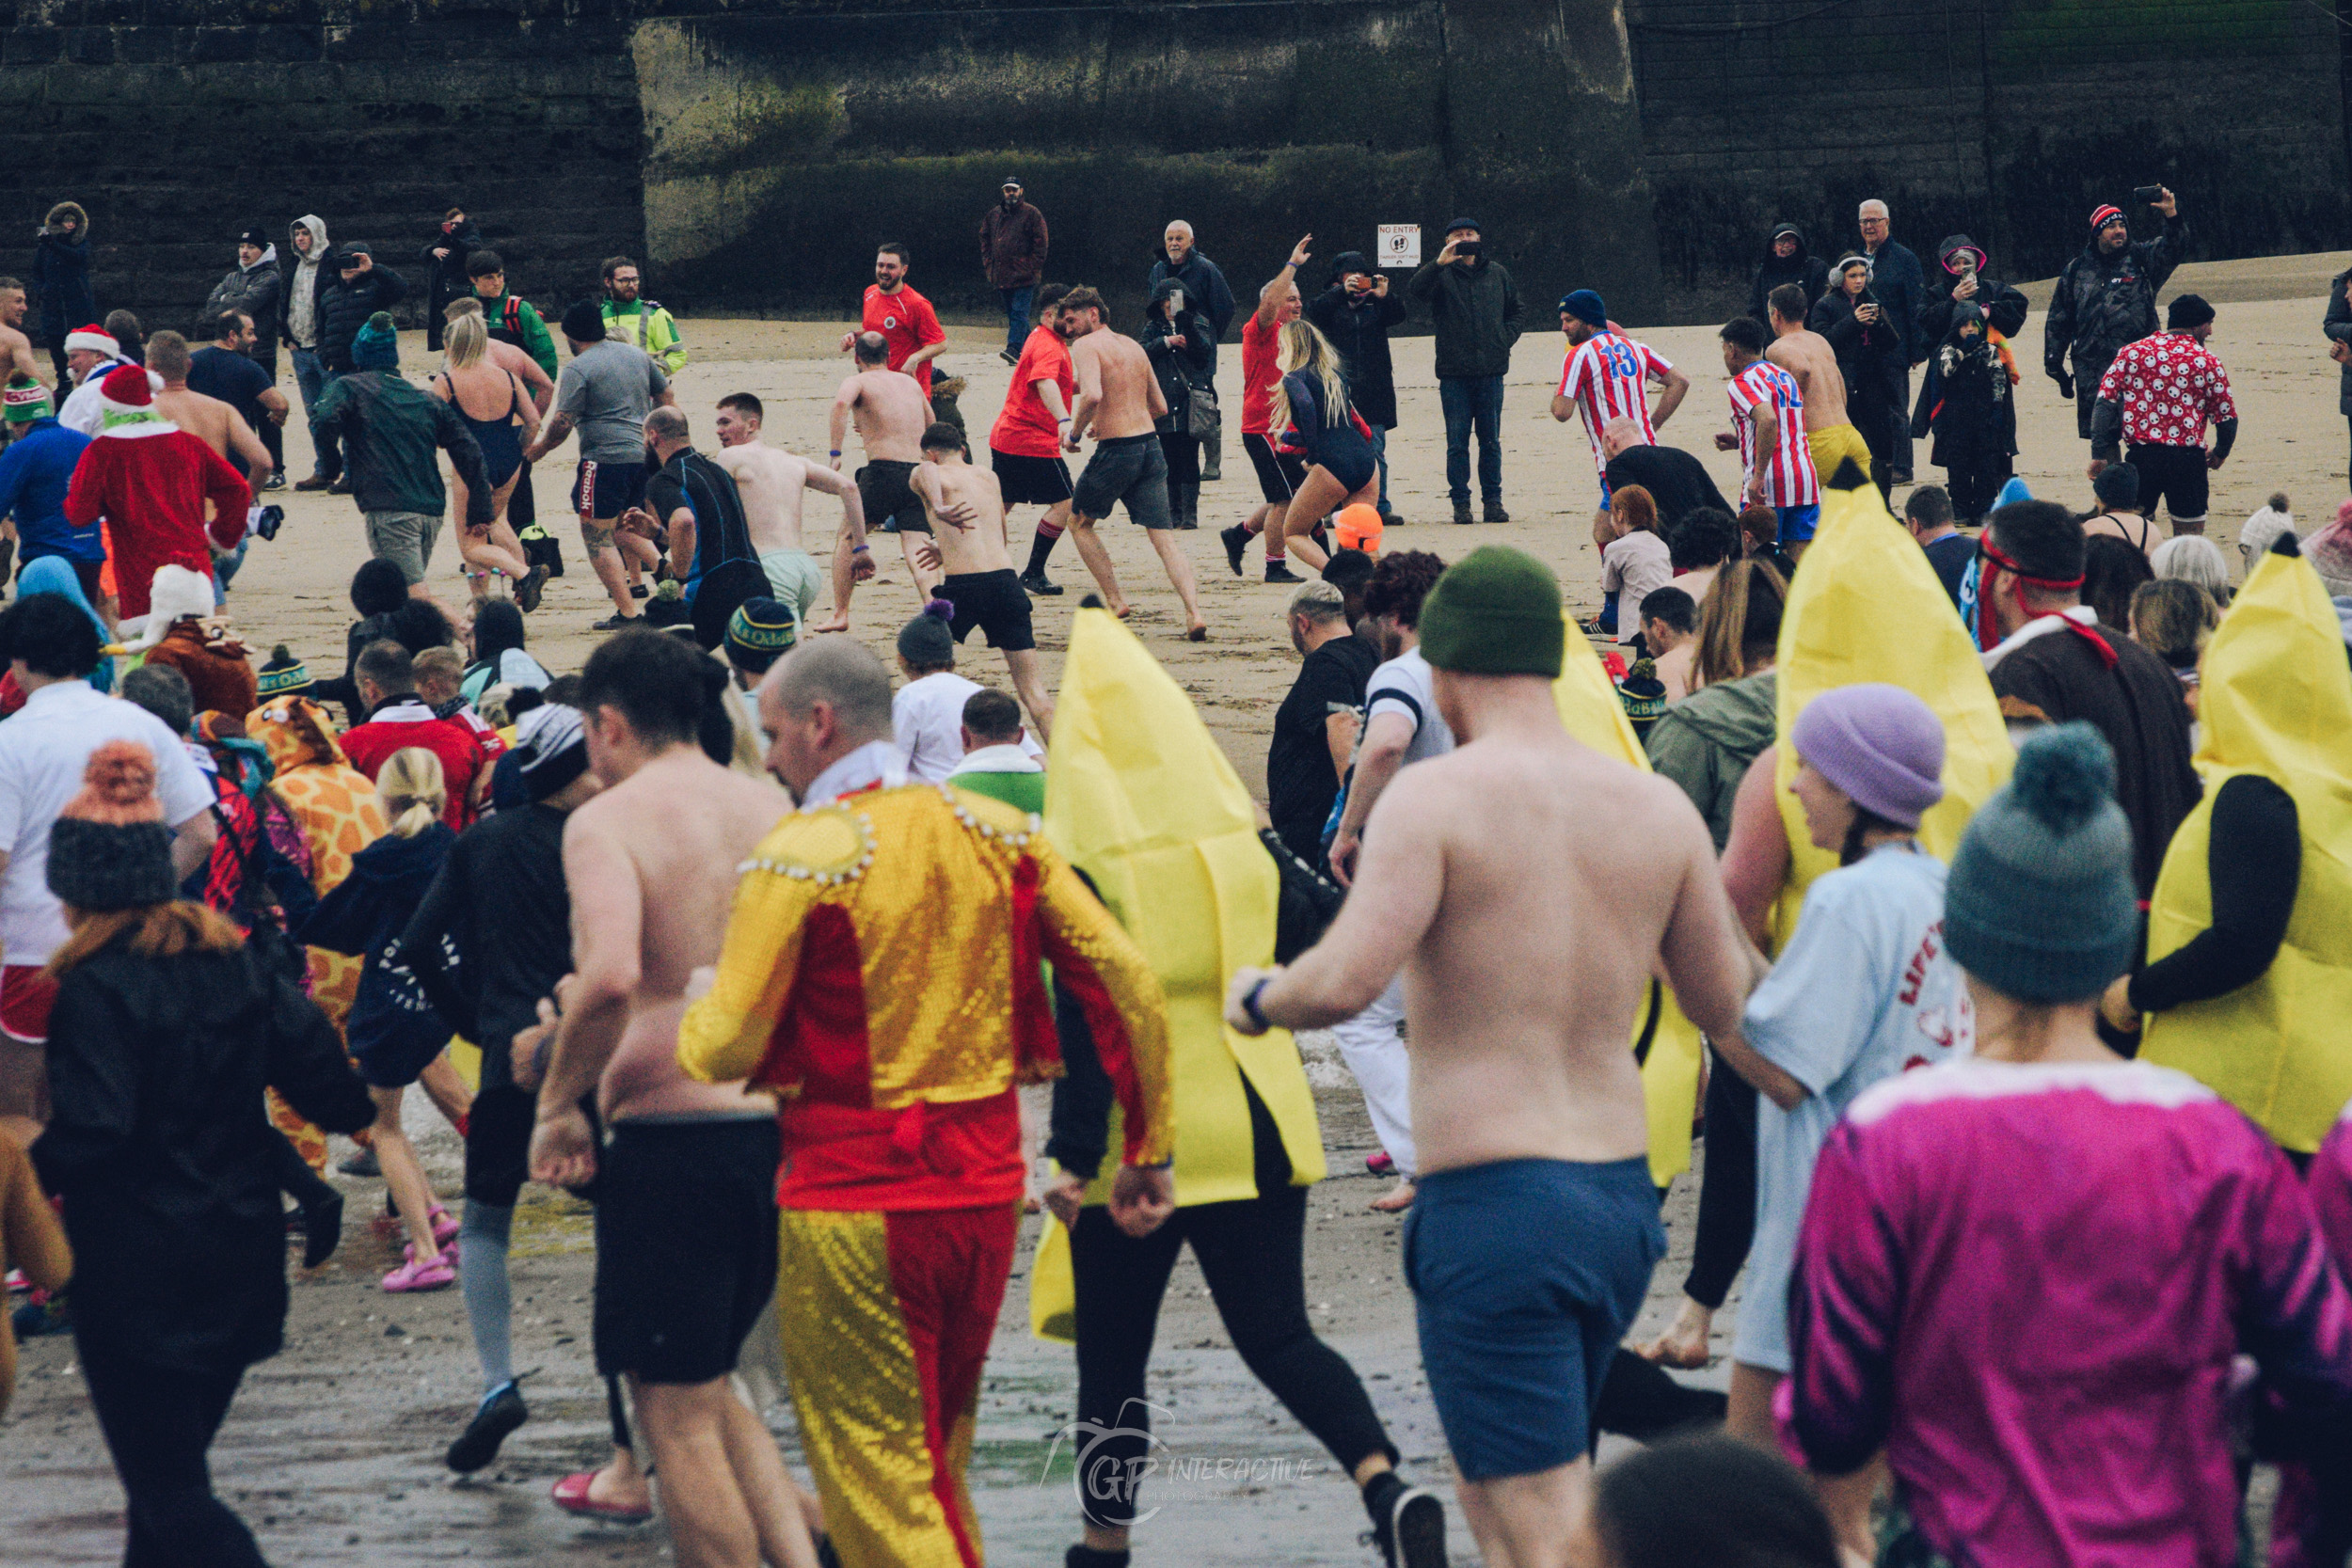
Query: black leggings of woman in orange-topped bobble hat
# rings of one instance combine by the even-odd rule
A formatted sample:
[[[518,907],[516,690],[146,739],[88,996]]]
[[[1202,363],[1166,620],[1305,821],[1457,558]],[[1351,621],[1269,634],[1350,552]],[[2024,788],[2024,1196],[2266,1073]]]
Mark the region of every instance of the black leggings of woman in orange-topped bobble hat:
[[[188,1373],[146,1366],[80,1340],[99,1432],[129,1500],[122,1568],[266,1568],[245,1521],[212,1495],[205,1450],[245,1368]]]

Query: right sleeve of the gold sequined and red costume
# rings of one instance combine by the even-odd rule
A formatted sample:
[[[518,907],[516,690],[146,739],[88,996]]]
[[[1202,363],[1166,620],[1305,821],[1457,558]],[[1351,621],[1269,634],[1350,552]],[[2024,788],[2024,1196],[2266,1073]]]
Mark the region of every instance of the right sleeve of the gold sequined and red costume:
[[[1127,1164],[1157,1166],[1176,1157],[1176,1093],[1169,1081],[1169,1023],[1160,976],[1103,900],[1080,882],[1044,839],[1030,851],[1044,872],[1037,919],[1054,978],[1077,997],[1094,1030],[1094,1051],[1120,1095]]]

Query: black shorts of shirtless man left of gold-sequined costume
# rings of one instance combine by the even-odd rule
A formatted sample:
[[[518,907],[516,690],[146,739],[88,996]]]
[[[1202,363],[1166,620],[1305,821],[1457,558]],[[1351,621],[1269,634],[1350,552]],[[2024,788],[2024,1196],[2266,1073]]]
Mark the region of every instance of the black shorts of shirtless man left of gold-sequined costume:
[[[776,1291],[774,1117],[612,1124],[595,1192],[595,1368],[710,1382]]]

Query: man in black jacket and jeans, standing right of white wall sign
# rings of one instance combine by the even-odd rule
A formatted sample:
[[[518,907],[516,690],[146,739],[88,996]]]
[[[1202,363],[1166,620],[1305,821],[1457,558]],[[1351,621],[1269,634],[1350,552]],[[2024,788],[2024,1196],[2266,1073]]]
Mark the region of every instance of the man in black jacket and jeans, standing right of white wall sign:
[[[1446,223],[1446,247],[1404,284],[1437,320],[1437,402],[1446,414],[1446,496],[1454,522],[1470,522],[1470,430],[1477,430],[1477,487],[1486,522],[1503,510],[1503,376],[1519,341],[1519,289],[1486,256],[1477,219]]]

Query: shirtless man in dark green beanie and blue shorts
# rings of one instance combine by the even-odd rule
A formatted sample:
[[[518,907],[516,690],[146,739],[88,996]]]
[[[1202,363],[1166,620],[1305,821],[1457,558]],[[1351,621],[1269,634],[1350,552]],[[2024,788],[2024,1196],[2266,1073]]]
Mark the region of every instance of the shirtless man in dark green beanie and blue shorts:
[[[1559,585],[1484,548],[1421,607],[1461,748],[1374,806],[1355,896],[1289,969],[1244,969],[1244,1032],[1329,1027],[1404,971],[1421,1356],[1489,1568],[1566,1563],[1592,1401],[1665,1248],[1628,1041],[1651,976],[1710,1034],[1757,959],[1691,802],[1559,724]],[[1595,818],[1588,802],[1616,811]],[[1494,832],[1494,823],[1510,832]]]

